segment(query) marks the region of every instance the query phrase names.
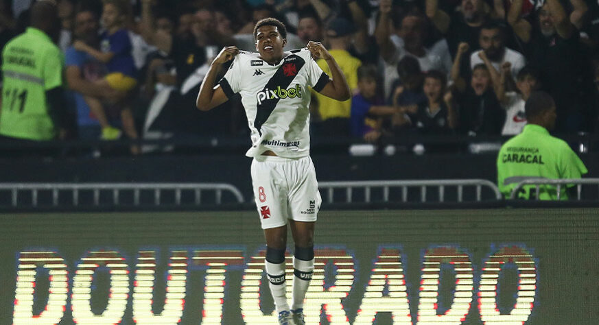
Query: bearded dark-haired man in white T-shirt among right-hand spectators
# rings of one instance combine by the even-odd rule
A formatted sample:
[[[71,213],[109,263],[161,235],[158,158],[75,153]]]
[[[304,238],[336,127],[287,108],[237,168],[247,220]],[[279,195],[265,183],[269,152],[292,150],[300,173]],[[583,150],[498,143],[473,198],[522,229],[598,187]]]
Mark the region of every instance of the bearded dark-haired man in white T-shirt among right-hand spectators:
[[[497,21],[489,21],[480,27],[480,36],[478,38],[480,50],[473,51],[470,56],[470,67],[473,68],[477,64],[485,63],[480,58],[480,53],[484,52],[486,58],[489,58],[495,70],[500,71],[502,64],[510,63],[510,77],[518,75],[520,69],[526,64],[524,56],[508,49],[505,45],[506,32],[501,23]],[[510,80],[508,80],[510,82]],[[510,85],[512,82],[510,82]]]

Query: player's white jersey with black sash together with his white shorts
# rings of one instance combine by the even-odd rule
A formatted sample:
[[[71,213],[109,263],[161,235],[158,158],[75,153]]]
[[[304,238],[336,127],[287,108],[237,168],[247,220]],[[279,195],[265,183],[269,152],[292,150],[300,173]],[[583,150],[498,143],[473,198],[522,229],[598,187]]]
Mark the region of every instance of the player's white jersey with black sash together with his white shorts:
[[[229,98],[242,96],[251,131],[252,184],[263,229],[287,219],[316,221],[320,194],[309,158],[309,87],[329,82],[307,49],[285,53],[278,64],[240,51],[220,86]],[[262,156],[267,150],[277,156]]]

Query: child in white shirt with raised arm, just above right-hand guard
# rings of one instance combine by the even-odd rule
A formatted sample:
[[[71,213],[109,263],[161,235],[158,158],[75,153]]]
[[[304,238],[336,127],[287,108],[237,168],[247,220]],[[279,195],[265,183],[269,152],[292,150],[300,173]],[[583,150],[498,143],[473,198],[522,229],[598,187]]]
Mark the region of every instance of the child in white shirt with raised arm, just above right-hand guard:
[[[487,66],[487,69],[489,67]],[[502,65],[502,71],[499,77],[499,82],[495,81],[497,77],[492,77],[493,88],[495,95],[499,99],[500,104],[506,110],[506,121],[502,129],[502,135],[519,134],[526,125],[526,114],[524,104],[533,91],[539,89],[539,78],[536,71],[529,67],[524,67],[518,72],[516,77],[516,91],[506,91],[506,79],[510,76],[510,63],[505,62]],[[496,73],[494,71],[494,73]]]

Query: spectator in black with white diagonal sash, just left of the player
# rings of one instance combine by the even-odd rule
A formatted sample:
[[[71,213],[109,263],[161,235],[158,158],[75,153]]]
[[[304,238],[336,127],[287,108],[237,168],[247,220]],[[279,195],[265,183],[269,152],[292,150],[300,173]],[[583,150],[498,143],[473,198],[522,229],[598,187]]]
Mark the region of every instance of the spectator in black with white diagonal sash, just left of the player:
[[[152,0],[142,1],[141,34],[148,43],[165,53],[175,67],[178,91],[170,92],[167,100],[163,100],[161,110],[172,114],[173,127],[178,134],[229,134],[230,131],[222,128],[222,125],[231,125],[233,101],[224,104],[223,108],[207,112],[196,110],[193,103],[196,102],[204,74],[208,71],[207,59],[211,60],[208,56],[224,46],[222,43],[231,42],[225,43],[231,45],[234,42],[215,32],[215,15],[212,11],[200,9],[195,14],[185,14],[193,10],[182,7],[178,12],[183,15],[179,18],[176,33],[168,34],[154,25]]]

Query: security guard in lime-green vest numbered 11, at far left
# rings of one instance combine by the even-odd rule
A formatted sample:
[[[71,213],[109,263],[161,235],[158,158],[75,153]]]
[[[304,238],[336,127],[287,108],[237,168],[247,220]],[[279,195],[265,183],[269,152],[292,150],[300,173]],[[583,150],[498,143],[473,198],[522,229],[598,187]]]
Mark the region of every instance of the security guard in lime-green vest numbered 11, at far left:
[[[56,139],[68,121],[62,90],[64,57],[56,46],[60,20],[54,1],[31,8],[31,26],[2,51],[0,135],[4,140]]]

